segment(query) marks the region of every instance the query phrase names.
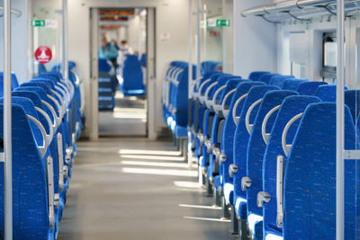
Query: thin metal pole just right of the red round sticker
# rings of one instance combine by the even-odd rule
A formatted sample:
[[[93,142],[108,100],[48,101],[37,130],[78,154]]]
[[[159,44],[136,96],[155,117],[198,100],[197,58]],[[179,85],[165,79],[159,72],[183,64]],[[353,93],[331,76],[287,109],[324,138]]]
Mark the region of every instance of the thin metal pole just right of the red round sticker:
[[[68,78],[67,57],[67,0],[62,0],[62,75]]]

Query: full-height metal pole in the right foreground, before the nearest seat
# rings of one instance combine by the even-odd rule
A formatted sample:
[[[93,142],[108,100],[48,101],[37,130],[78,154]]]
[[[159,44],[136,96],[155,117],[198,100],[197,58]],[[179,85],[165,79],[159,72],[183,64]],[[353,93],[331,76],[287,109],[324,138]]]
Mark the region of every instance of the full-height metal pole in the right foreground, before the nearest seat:
[[[338,68],[337,68],[337,240],[344,239],[344,0],[338,3]]]

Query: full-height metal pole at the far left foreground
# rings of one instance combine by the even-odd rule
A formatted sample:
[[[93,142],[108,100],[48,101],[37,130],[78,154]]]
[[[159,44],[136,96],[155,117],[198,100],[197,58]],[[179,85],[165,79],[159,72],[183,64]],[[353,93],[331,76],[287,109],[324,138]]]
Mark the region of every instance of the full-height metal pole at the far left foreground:
[[[4,239],[13,239],[11,0],[4,0]]]

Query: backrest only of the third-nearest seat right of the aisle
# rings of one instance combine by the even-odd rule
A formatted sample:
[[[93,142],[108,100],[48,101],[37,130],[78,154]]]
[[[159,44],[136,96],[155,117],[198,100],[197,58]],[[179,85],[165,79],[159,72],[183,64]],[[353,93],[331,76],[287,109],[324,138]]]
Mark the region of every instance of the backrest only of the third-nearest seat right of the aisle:
[[[263,190],[263,158],[266,143],[262,135],[262,125],[267,112],[281,105],[287,96],[297,95],[295,91],[275,90],[264,95],[263,101],[257,111],[257,117],[251,130],[247,145],[247,177],[251,179],[251,186],[247,188],[247,215],[263,215],[263,209],[257,207],[257,193]],[[273,114],[266,124],[266,132],[273,128],[276,115]]]

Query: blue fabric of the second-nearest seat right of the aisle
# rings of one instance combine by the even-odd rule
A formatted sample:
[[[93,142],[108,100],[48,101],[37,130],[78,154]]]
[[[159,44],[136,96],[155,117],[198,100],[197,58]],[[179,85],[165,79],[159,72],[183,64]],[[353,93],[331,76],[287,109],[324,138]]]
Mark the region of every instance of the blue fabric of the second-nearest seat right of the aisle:
[[[271,200],[263,205],[264,237],[267,235],[283,236],[283,229],[276,227],[276,157],[284,156],[282,135],[285,125],[295,115],[301,113],[312,102],[320,102],[315,96],[289,96],[284,99],[276,117],[263,158],[263,191],[270,194]],[[299,121],[295,121],[287,134],[287,142],[292,143]]]

